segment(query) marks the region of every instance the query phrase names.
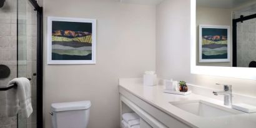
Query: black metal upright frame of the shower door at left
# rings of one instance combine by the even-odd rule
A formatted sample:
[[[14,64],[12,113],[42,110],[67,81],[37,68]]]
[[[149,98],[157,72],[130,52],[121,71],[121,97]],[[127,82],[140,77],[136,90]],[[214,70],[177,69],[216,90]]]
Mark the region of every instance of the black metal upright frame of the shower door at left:
[[[29,1],[32,6],[34,7],[34,11],[37,11],[37,48],[36,48],[36,51],[37,51],[37,59],[36,59],[36,86],[37,86],[37,89],[36,89],[36,106],[37,106],[37,119],[36,119],[36,127],[37,128],[42,128],[42,57],[43,57],[43,54],[42,54],[42,7],[39,6],[39,4],[37,3],[36,0],[27,0]],[[17,5],[18,6],[18,5]],[[17,9],[18,10],[18,9]],[[18,18],[17,18],[18,20]],[[18,24],[17,24],[17,28],[18,28]],[[17,34],[18,34],[18,31],[17,31]],[[18,40],[17,40],[17,46],[18,46]],[[18,54],[17,54],[18,56]],[[17,60],[18,62],[18,60]],[[18,64],[17,64],[18,66]]]

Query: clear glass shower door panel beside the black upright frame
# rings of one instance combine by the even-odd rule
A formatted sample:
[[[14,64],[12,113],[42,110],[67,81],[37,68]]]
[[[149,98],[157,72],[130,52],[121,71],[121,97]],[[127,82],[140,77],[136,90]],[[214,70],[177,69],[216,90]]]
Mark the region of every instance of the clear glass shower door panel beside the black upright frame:
[[[37,14],[27,0],[17,1],[17,77],[31,78],[33,112],[28,119],[17,117],[17,127],[36,127]],[[18,114],[19,115],[19,114]]]

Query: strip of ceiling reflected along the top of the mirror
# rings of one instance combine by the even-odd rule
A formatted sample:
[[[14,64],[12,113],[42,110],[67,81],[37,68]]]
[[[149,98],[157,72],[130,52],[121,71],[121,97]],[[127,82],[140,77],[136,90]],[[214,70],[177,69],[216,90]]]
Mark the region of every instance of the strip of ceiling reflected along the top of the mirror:
[[[197,0],[197,6],[231,9],[256,0]]]

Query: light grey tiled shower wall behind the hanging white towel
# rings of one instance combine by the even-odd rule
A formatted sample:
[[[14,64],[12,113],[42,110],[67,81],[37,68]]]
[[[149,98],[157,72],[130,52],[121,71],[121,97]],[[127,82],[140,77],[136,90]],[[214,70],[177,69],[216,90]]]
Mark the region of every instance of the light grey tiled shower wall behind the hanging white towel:
[[[6,0],[0,8],[0,64],[11,69],[11,75],[0,79],[0,87],[6,86],[14,77],[30,77],[32,107],[29,119],[19,119],[19,128],[36,127],[36,11],[27,0],[19,0],[19,31],[17,37],[17,0]],[[17,46],[17,39],[19,44]],[[19,66],[17,72],[17,48]],[[4,117],[6,92],[0,92],[0,128],[17,127],[16,117]]]

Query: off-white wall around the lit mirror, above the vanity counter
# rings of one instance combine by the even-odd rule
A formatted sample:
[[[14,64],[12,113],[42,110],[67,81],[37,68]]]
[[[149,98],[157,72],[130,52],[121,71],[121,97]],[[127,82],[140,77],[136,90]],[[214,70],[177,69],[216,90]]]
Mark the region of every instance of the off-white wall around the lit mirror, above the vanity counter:
[[[215,83],[232,84],[234,92],[256,96],[256,81],[190,74],[190,0],[167,0],[157,6],[156,47],[156,71],[161,78],[214,89],[222,89]]]

